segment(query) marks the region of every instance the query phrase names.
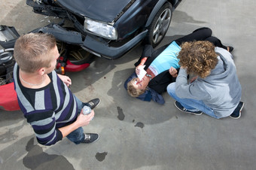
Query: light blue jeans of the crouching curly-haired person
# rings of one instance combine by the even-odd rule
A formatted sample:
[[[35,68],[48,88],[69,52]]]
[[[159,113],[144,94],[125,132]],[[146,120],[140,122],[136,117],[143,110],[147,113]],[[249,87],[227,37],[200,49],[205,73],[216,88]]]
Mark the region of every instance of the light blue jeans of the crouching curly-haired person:
[[[189,111],[203,111],[203,113],[208,114],[210,117],[215,117],[217,119],[221,118],[217,117],[212,108],[209,108],[209,106],[205,105],[201,100],[178,98],[175,94],[175,83],[170,83],[168,85],[167,92],[169,93],[169,96],[172,96],[173,99],[181,103],[181,105]]]

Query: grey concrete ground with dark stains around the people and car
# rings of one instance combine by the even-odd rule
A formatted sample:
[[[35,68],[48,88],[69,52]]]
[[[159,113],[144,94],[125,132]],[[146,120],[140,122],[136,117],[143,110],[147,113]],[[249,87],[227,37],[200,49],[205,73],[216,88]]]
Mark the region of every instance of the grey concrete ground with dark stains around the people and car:
[[[15,26],[20,34],[56,20],[34,14],[25,0],[0,4],[0,24]],[[84,71],[68,74],[80,99],[102,100],[84,127],[99,133],[99,141],[75,145],[64,138],[45,147],[20,111],[0,111],[0,169],[255,169],[255,9],[254,0],[183,0],[161,44],[208,26],[232,45],[245,102],[239,120],[181,113],[167,93],[165,105],[128,96],[123,82],[142,53],[139,45],[120,59],[97,58]]]

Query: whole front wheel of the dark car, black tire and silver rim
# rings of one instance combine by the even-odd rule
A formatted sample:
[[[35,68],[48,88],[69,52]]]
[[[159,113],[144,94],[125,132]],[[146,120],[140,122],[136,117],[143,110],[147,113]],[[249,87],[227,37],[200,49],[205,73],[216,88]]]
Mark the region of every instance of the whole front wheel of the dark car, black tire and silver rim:
[[[160,8],[152,20],[151,25],[148,26],[148,34],[145,37],[144,43],[151,44],[152,47],[157,47],[166,35],[171,20],[172,5],[167,2]]]

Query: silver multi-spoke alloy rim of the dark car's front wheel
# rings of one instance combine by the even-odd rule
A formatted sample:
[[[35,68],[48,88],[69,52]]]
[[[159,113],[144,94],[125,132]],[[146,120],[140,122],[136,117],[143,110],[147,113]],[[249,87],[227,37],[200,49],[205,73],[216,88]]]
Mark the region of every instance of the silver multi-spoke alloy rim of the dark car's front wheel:
[[[157,44],[163,39],[163,36],[166,34],[167,29],[169,29],[169,23],[171,22],[172,12],[169,8],[160,14],[157,19],[157,23],[154,26],[152,40],[154,44]]]

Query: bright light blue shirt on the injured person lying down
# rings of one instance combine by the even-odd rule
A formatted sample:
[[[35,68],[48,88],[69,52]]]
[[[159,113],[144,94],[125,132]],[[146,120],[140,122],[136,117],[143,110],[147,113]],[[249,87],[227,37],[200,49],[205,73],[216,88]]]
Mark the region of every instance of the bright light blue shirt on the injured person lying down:
[[[154,73],[155,76],[162,73],[163,71],[169,70],[169,68],[180,68],[178,65],[178,52],[181,47],[175,41],[172,41],[159,56],[149,65],[149,69]]]

